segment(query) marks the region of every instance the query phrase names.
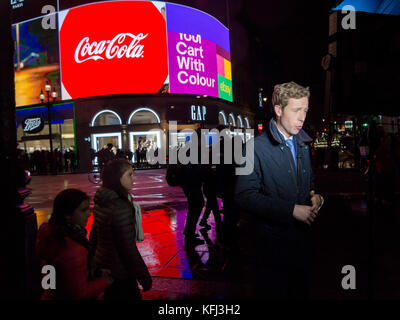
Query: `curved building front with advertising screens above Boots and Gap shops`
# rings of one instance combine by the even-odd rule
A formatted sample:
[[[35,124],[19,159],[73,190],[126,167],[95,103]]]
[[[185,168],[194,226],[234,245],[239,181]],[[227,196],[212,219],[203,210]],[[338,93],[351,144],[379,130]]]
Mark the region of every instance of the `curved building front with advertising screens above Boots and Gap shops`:
[[[109,143],[136,162],[138,149],[185,143],[183,129],[222,125],[243,141],[251,136],[253,114],[233,101],[229,29],[207,13],[162,1],[60,0],[49,16],[28,11],[13,24],[17,132],[26,153],[52,149],[59,154],[42,157],[67,154],[87,171]],[[56,101],[39,98],[46,87]]]

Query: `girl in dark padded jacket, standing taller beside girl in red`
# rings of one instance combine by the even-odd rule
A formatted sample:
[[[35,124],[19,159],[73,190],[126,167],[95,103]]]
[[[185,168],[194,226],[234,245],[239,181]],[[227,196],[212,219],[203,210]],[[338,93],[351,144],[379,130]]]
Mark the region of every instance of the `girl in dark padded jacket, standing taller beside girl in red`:
[[[94,196],[93,228],[90,241],[96,243],[95,266],[111,270],[114,283],[104,299],[141,299],[152,279],[136,246],[143,241],[140,206],[132,200],[132,164],[113,160],[103,171],[103,185]]]

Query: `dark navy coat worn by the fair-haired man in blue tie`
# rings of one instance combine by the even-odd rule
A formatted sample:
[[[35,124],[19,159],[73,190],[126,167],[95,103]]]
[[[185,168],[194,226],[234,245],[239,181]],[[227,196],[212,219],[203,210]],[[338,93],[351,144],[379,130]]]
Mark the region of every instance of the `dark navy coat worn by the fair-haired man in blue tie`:
[[[253,172],[238,176],[236,204],[248,213],[251,235],[270,262],[291,263],[309,245],[310,227],[293,217],[293,209],[295,204],[311,205],[311,141],[303,130],[294,136],[296,172],[292,153],[271,120],[266,132],[254,139]]]

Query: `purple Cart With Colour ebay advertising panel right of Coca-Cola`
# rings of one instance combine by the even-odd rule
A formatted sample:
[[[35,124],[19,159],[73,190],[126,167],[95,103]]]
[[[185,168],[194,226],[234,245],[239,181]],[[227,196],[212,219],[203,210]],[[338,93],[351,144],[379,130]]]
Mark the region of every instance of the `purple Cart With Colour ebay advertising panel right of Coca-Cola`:
[[[229,31],[211,16],[166,4],[170,92],[232,101]]]

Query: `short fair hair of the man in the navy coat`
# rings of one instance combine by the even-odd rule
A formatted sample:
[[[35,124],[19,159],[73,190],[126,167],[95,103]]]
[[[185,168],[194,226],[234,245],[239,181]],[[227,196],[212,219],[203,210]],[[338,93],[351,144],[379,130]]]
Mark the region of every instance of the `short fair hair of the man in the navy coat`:
[[[290,98],[300,99],[304,97],[310,97],[309,87],[303,87],[293,81],[277,84],[272,93],[272,108],[278,105],[283,109],[288,105]]]

